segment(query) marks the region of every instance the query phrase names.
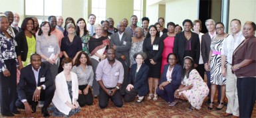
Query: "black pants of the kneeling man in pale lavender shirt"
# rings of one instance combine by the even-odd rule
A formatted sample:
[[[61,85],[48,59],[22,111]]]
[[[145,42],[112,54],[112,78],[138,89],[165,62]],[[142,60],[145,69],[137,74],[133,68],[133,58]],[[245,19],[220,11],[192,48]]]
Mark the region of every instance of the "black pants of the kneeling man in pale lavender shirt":
[[[114,88],[107,88],[114,89]],[[100,88],[100,94],[98,96],[98,105],[101,109],[104,109],[108,106],[108,101],[111,99],[116,107],[122,107],[122,95],[120,94],[120,90],[117,90],[114,95],[109,96],[102,88]]]

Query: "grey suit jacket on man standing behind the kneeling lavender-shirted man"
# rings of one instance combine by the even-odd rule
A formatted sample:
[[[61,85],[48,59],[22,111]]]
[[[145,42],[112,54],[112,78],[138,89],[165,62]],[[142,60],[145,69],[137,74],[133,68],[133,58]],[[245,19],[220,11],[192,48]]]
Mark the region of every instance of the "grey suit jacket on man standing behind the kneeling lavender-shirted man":
[[[132,38],[130,35],[128,35],[128,34],[126,34],[126,32],[124,32],[124,34],[122,35],[122,39],[120,40],[118,33],[119,32],[116,32],[111,35],[110,45],[111,46],[113,46],[113,44],[116,45],[116,58],[118,60],[120,60],[120,56],[122,56],[122,55],[126,56],[125,62],[127,64],[127,66],[129,67],[130,66],[129,50],[132,45]]]

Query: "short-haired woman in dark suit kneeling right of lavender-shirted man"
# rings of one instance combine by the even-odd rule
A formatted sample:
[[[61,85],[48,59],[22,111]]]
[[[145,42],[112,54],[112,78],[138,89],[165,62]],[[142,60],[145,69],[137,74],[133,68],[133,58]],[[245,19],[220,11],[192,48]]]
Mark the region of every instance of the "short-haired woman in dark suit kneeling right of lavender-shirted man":
[[[138,95],[136,103],[141,103],[144,96],[148,93],[148,70],[150,70],[150,68],[144,64],[145,59],[146,54],[144,52],[134,54],[136,64],[132,64],[130,70],[126,95],[124,96],[125,102],[134,101],[135,97]]]

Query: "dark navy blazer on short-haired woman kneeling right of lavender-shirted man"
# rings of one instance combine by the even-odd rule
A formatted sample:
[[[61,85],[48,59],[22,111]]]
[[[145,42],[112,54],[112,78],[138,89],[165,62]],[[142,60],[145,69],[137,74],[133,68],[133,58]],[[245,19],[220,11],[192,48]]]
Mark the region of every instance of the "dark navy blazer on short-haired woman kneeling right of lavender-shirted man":
[[[146,64],[142,64],[140,70],[136,74],[137,64],[132,64],[128,84],[133,84],[134,89],[138,91],[139,96],[144,96],[148,93],[148,71],[150,68]]]

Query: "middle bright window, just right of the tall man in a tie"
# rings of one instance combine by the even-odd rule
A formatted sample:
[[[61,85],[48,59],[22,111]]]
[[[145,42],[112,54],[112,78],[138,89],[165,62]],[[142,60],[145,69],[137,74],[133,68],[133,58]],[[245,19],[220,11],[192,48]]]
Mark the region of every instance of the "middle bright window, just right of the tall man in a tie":
[[[92,1],[92,14],[96,15],[95,23],[106,20],[106,0]]]

